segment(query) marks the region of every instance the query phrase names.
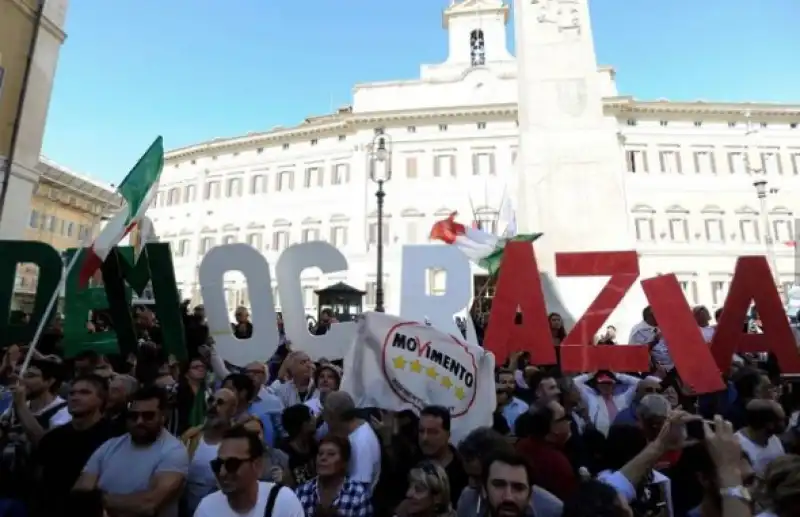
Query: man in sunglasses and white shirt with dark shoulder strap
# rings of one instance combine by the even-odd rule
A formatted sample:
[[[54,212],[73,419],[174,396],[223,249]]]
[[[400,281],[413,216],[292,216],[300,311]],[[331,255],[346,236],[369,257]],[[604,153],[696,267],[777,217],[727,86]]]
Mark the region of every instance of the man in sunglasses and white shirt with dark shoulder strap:
[[[235,427],[225,433],[211,468],[220,490],[200,501],[194,517],[305,517],[294,492],[260,482],[264,445],[254,433]]]

